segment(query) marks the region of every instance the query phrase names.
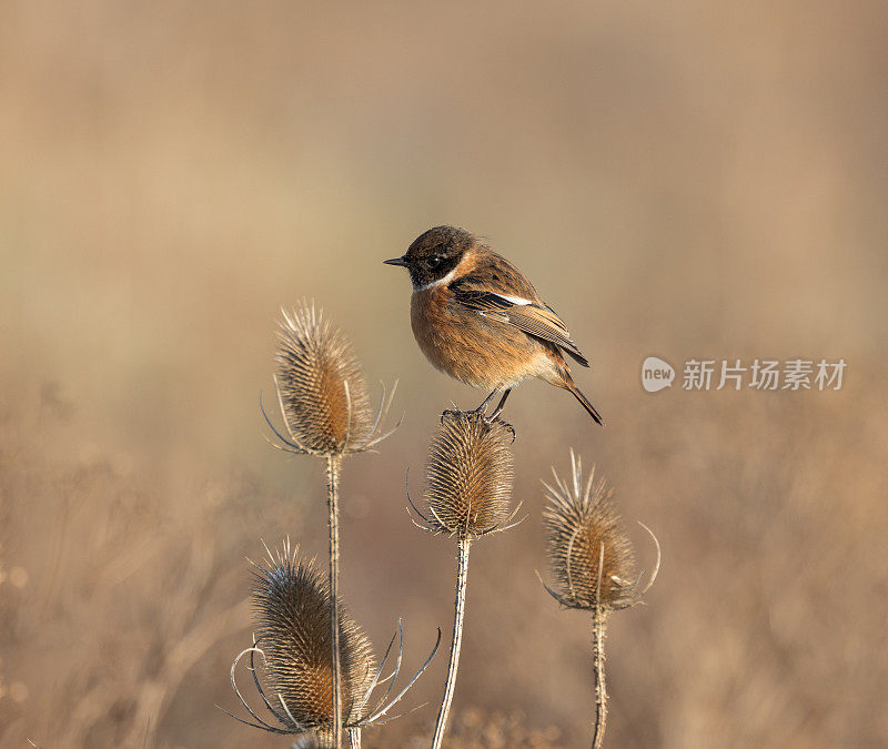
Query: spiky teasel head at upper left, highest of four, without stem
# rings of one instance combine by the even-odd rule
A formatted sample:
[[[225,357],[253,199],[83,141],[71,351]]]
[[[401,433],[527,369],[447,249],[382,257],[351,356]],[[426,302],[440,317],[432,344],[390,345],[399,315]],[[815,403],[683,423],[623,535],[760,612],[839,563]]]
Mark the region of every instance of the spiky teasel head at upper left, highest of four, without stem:
[[[383,391],[374,416],[357,357],[342,332],[313,304],[303,302],[282,312],[274,381],[289,437],[270,421],[269,426],[290,452],[341,455],[371,449],[387,436],[379,427],[394,388],[387,399]]]

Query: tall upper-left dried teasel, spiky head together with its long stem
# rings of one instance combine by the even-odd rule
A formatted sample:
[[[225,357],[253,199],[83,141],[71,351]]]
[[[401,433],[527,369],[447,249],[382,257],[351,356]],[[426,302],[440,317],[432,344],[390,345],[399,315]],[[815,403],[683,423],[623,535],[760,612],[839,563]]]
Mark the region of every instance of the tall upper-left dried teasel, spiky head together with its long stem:
[[[275,447],[326,459],[327,508],[330,517],[330,600],[333,608],[330,646],[333,654],[333,745],[342,739],[342,687],[339,664],[339,494],[342,457],[372,449],[392,431],[381,424],[392,405],[395,387],[386,397],[383,387],[374,417],[366,381],[351,343],[324,320],[313,304],[302,303],[292,312],[282,311],[279,323],[278,371],[274,382],[285,436],[260,407],[279,443]]]

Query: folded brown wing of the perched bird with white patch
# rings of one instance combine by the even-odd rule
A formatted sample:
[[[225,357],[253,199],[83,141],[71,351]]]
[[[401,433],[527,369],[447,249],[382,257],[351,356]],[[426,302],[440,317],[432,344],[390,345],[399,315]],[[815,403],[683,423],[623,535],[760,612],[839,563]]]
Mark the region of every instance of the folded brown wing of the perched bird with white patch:
[[[493,254],[493,253],[492,253]],[[567,326],[547,306],[525,275],[498,255],[485,259],[450,284],[458,304],[514,325],[527,335],[554,343],[583,366],[588,360],[571,340]]]

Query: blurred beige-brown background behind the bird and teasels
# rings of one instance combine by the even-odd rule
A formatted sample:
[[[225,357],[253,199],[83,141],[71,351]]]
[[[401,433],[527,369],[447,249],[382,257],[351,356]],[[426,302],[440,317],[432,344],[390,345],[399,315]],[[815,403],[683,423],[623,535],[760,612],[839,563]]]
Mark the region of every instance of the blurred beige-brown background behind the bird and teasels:
[[[484,394],[423,361],[381,264],[441,223],[533,279],[607,421],[509,401],[528,518],[475,546],[450,746],[589,740],[589,621],[535,576],[569,447],[642,565],[635,519],[663,546],[612,619],[610,746],[888,743],[887,125],[878,0],[0,3],[0,743],[289,746],[214,705],[245,557],[326,548],[322,466],[259,412],[302,297],[400,379],[403,425],[345,466],[350,608],[377,650],[403,617],[408,667],[448,631],[454,546],[404,479]],[[648,355],[848,368],[650,395]],[[426,746],[445,668],[365,745]]]

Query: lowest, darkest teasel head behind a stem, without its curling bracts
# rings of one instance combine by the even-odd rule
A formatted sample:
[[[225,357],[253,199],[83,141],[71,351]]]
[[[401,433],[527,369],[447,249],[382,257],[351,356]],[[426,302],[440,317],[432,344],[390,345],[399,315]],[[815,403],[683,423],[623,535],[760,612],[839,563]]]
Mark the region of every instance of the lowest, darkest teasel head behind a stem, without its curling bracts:
[[[317,739],[333,725],[331,605],[326,580],[289,543],[254,569],[256,648],[263,656],[266,691],[279,718]],[[360,722],[376,662],[363,631],[341,613],[340,659],[345,723]],[[276,704],[276,705],[275,705]],[[287,720],[289,719],[289,720]]]

